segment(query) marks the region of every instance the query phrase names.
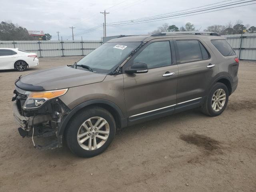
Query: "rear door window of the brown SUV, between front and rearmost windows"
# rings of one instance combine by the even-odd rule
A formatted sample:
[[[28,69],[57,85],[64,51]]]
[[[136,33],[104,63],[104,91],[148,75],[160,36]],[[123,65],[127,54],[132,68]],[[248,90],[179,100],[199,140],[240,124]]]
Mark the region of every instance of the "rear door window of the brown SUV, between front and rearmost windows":
[[[205,60],[209,54],[204,46],[198,40],[176,40],[180,63]]]

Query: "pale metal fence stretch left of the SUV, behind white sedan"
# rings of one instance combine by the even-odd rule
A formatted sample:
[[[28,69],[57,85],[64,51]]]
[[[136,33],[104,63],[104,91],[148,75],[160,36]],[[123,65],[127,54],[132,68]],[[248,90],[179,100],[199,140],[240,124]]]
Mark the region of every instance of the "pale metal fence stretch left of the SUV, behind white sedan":
[[[89,41],[0,41],[0,48],[19,48],[36,52],[38,57],[87,55],[102,45],[100,40]]]

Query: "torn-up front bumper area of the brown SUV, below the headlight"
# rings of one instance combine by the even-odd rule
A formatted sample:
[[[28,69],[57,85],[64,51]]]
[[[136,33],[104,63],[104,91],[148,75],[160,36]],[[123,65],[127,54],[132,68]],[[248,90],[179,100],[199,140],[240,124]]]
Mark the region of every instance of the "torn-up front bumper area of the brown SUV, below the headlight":
[[[13,115],[18,124],[18,132],[24,137],[32,137],[35,148],[40,150],[54,149],[62,147],[62,135],[58,134],[62,119],[69,113],[69,108],[59,99],[48,101],[40,109],[24,110],[22,109],[20,93],[14,91],[13,97]],[[50,142],[40,145],[34,142],[34,137],[50,138]]]

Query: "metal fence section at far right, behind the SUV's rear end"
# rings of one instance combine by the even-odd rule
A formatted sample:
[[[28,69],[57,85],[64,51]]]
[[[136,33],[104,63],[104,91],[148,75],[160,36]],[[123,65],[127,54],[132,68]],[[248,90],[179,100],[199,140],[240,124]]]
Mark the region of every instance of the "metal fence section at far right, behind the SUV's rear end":
[[[256,33],[225,35],[239,59],[256,60]]]

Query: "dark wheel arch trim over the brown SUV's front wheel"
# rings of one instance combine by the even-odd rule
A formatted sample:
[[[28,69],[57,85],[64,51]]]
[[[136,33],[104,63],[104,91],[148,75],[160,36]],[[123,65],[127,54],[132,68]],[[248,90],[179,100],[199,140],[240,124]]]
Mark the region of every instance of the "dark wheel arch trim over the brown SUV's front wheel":
[[[94,100],[89,100],[89,101],[83,102],[70,111],[70,113],[59,124],[58,136],[62,136],[64,134],[64,131],[66,129],[68,122],[71,120],[71,118],[74,115],[76,115],[80,110],[84,110],[84,108],[88,108],[91,106],[99,106],[99,107],[102,107],[102,108],[108,110],[113,115],[113,117],[116,121],[117,128],[123,128],[123,127],[127,126],[127,124],[128,124],[127,118],[124,118],[122,111],[116,104],[114,104],[111,101],[104,100],[104,99],[94,99]]]

